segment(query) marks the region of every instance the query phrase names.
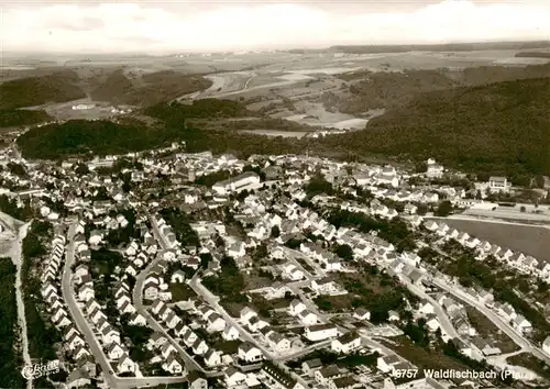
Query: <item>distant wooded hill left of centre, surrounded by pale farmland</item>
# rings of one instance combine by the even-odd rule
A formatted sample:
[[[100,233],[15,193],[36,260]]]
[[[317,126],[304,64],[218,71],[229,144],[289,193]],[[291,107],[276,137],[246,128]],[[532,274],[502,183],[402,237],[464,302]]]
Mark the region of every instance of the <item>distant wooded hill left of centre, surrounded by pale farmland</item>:
[[[90,97],[113,104],[150,107],[210,86],[211,81],[201,76],[189,76],[173,70],[145,74],[140,79],[131,80],[123,69],[118,69],[92,90]]]

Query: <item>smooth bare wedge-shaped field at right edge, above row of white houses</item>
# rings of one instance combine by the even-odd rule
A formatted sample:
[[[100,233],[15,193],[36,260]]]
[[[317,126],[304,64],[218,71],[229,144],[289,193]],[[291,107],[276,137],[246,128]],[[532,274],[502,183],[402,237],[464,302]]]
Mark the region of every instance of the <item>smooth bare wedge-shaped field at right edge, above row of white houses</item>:
[[[487,240],[550,263],[550,229],[473,220],[446,219],[444,222],[480,240]]]

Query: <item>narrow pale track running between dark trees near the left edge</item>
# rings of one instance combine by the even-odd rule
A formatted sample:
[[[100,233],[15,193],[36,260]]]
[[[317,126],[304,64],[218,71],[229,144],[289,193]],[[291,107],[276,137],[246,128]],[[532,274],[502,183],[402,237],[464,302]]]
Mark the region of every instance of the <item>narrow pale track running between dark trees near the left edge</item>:
[[[26,333],[25,304],[23,302],[23,291],[21,289],[21,269],[23,267],[23,240],[26,236],[31,223],[23,224],[18,232],[18,238],[13,242],[11,259],[16,268],[15,274],[15,300],[18,302],[18,322],[21,329],[21,341],[23,343],[23,360],[25,366],[32,366],[31,354],[29,354],[29,337]],[[26,381],[26,388],[32,389],[32,377]]]

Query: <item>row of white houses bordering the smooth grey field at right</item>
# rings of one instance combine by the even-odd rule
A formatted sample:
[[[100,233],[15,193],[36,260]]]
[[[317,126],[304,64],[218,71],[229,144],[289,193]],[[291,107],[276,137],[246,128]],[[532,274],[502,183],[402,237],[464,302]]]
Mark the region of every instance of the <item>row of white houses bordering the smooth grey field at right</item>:
[[[522,274],[532,275],[550,282],[549,263],[539,262],[530,255],[513,252],[509,248],[501,247],[488,241],[481,241],[475,236],[469,235],[466,232],[460,232],[457,229],[450,227],[444,222],[426,221],[424,226],[446,241],[454,240],[464,247],[475,249],[477,259],[480,260],[493,256],[502,264],[508,265]]]

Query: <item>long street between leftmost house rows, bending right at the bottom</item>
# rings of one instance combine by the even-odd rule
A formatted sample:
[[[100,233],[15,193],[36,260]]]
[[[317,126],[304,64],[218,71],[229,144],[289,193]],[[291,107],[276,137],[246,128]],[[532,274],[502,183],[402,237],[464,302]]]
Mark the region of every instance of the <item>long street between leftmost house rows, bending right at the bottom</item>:
[[[101,366],[103,377],[108,388],[110,389],[131,389],[136,387],[145,386],[157,386],[167,384],[184,382],[187,380],[186,377],[118,377],[114,373],[111,373],[111,365],[107,355],[105,354],[101,345],[99,344],[97,337],[94,335],[88,322],[84,318],[80,307],[78,307],[75,293],[72,287],[72,276],[73,270],[72,265],[75,263],[75,236],[76,224],[69,226],[67,234],[67,252],[65,254],[65,266],[63,268],[62,275],[62,294],[67,308],[69,310],[73,322],[80,333],[84,335],[86,343],[88,344],[91,354],[94,355],[96,362]]]

